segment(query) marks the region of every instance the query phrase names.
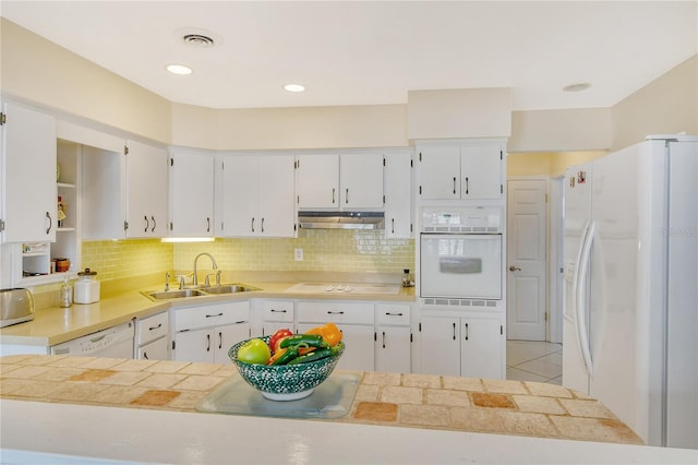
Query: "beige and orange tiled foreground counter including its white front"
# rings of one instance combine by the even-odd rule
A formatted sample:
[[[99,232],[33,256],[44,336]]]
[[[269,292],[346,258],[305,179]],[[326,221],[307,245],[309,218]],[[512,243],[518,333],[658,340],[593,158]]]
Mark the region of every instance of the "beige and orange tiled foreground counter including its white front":
[[[1,462],[691,463],[639,445],[598,401],[535,382],[378,372],[344,418],[200,413],[232,365],[17,355],[0,358]],[[49,455],[44,455],[49,454]],[[68,463],[65,462],[65,463]]]

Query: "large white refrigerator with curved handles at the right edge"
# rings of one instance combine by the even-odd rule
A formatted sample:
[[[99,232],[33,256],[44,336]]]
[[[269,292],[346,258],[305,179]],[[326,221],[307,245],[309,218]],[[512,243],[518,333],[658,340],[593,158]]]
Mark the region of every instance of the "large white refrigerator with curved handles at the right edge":
[[[698,449],[698,138],[569,168],[563,385],[646,443]]]

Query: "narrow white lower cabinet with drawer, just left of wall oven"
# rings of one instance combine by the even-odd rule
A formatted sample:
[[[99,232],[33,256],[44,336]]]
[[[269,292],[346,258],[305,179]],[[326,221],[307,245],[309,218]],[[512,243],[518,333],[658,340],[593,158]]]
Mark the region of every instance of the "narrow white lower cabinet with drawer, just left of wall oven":
[[[375,371],[411,372],[410,306],[375,306]]]

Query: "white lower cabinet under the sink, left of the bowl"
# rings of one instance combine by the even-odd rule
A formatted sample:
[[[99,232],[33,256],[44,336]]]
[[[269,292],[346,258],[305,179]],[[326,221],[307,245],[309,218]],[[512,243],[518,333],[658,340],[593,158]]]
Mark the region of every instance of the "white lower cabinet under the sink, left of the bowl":
[[[250,302],[237,301],[173,310],[172,358],[228,363],[228,350],[250,337]]]

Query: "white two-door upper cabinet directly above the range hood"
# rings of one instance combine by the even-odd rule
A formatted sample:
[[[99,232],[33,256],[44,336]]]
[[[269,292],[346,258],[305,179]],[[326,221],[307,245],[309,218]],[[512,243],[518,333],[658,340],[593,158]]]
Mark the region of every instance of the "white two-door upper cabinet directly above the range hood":
[[[296,159],[299,210],[383,207],[381,153],[299,155]]]

